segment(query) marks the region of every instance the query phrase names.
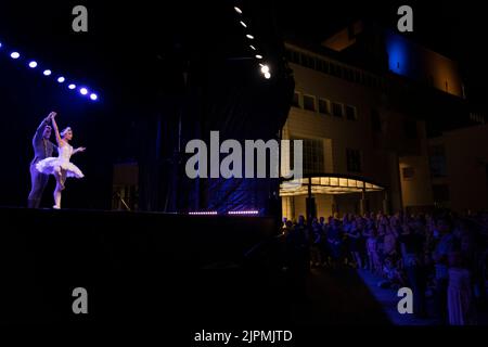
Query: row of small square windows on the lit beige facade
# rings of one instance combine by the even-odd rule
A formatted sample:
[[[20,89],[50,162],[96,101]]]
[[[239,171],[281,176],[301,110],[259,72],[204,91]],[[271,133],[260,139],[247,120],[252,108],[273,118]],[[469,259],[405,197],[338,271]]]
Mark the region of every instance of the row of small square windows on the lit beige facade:
[[[331,102],[323,98],[317,99],[313,95],[301,95],[299,92],[295,92],[293,97],[293,106],[319,112],[322,115],[332,115],[339,118],[346,116],[349,120],[358,120],[358,110],[355,106]]]

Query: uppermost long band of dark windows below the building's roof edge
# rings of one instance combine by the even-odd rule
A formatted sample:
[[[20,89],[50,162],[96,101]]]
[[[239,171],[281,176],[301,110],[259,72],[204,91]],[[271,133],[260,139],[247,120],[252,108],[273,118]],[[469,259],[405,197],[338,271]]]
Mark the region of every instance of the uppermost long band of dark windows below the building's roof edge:
[[[288,62],[298,64],[334,77],[344,78],[347,81],[360,83],[367,87],[386,90],[386,79],[365,73],[360,69],[338,65],[324,59],[316,57],[292,49],[286,49]]]

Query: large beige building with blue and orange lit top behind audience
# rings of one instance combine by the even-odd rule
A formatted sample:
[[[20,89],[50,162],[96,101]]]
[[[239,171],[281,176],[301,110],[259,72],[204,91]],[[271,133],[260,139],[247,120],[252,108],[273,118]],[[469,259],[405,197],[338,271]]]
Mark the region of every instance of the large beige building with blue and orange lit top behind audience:
[[[281,184],[283,217],[432,209],[431,132],[467,115],[457,64],[362,22],[285,47],[296,87],[282,139],[304,141],[304,179]],[[283,175],[290,163],[282,153]]]

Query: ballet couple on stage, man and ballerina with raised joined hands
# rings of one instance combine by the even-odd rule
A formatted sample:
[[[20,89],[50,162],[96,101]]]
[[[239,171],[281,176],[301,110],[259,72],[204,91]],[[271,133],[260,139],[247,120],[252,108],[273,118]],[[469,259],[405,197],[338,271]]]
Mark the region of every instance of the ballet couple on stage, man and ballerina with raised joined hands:
[[[75,153],[84,152],[85,147],[74,150],[69,145],[69,141],[73,139],[73,130],[67,127],[60,132],[55,117],[56,113],[51,112],[37,128],[36,134],[33,139],[35,157],[30,163],[30,178],[33,182],[28,197],[28,207],[30,208],[39,207],[42,193],[48,183],[49,175],[53,175],[56,180],[53,206],[53,208],[56,209],[61,208],[61,191],[64,190],[66,178],[84,177],[81,170],[76,165],[70,163],[69,158]],[[49,123],[52,123],[52,127],[54,128],[57,146],[49,140],[52,130]],[[57,150],[57,157],[52,157],[52,152],[54,149]]]

